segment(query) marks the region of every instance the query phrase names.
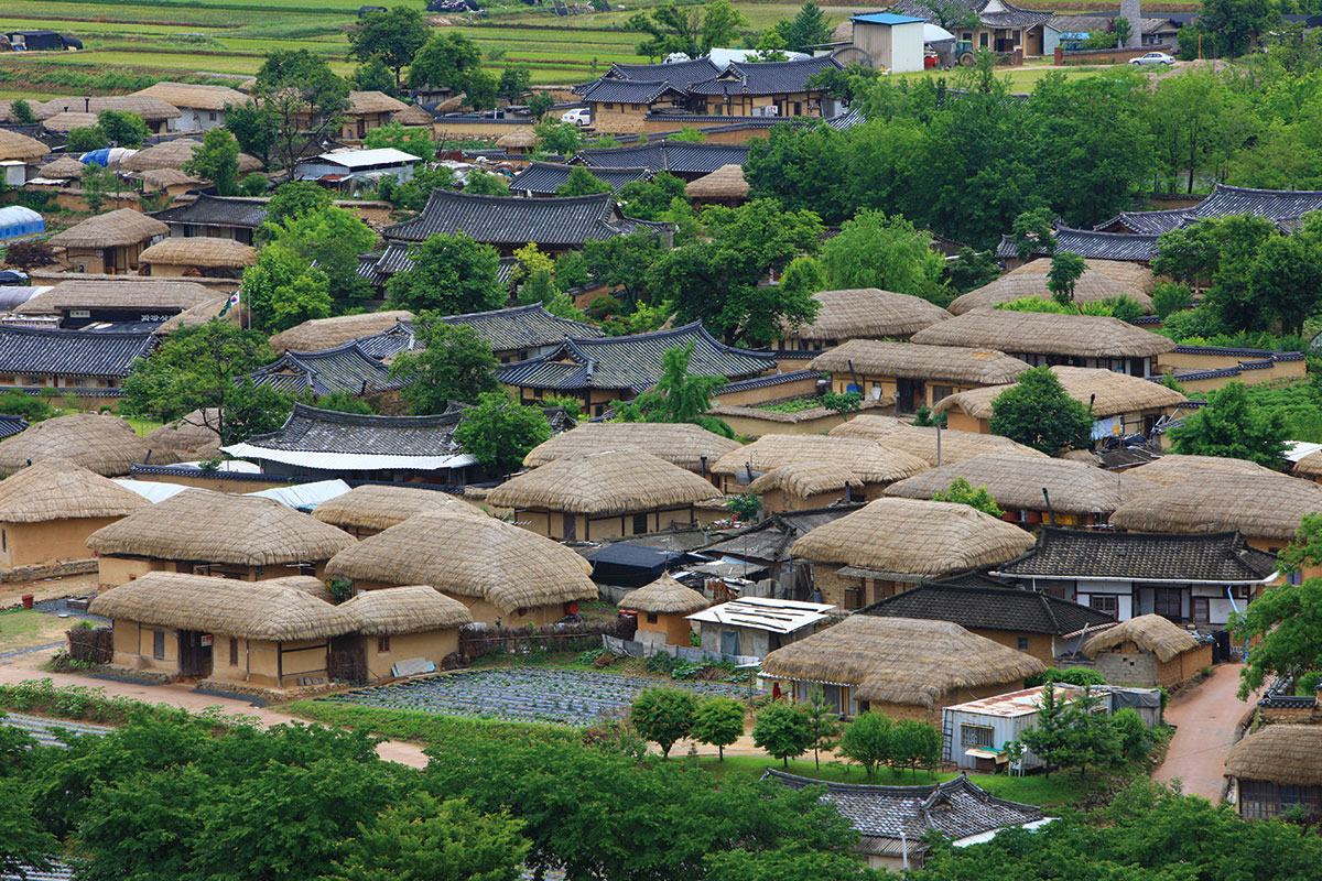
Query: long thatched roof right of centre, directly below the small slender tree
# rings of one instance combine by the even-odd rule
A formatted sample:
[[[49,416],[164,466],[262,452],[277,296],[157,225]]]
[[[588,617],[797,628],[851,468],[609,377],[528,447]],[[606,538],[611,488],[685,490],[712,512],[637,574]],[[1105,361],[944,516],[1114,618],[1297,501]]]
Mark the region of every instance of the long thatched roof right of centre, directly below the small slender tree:
[[[1003,309],[966,312],[917,332],[912,341],[932,346],[1081,358],[1147,358],[1175,347],[1174,339],[1120,318]]]

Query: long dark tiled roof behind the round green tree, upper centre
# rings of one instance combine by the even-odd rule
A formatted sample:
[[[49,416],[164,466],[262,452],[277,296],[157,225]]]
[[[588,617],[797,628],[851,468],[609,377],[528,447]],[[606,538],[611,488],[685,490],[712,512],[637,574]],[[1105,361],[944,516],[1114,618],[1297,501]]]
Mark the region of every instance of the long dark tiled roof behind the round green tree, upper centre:
[[[535,242],[572,247],[653,229],[654,225],[621,215],[609,193],[530,199],[438,189],[422,214],[386,227],[382,235],[398,243],[422,242],[438,232],[465,232],[488,244],[522,247]]]

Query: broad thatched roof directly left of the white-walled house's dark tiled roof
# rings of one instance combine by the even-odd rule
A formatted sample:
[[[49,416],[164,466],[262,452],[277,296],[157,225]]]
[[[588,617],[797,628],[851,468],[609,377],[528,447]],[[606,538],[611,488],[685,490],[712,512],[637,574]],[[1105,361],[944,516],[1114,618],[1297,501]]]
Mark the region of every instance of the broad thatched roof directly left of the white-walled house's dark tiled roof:
[[[968,505],[883,498],[818,526],[791,553],[903,575],[941,576],[1013,560],[1031,535]]]

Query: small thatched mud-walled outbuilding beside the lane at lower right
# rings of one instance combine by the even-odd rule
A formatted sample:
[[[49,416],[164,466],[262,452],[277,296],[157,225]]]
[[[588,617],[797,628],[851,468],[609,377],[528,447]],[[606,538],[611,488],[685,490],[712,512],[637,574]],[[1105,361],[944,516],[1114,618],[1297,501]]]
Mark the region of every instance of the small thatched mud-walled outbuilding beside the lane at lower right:
[[[1084,658],[1108,683],[1179,686],[1212,666],[1212,645],[1158,614],[1138,616],[1104,630],[1083,646]]]

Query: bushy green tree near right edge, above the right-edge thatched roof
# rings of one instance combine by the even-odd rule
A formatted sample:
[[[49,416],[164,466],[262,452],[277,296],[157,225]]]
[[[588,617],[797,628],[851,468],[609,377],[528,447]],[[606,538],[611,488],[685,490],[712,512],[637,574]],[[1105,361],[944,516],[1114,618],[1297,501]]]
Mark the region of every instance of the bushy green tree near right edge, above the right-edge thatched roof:
[[[1247,458],[1265,468],[1285,464],[1289,428],[1280,409],[1255,407],[1244,383],[1232,379],[1167,432],[1173,453]]]

